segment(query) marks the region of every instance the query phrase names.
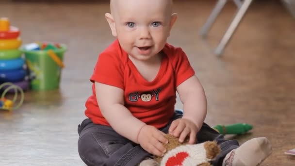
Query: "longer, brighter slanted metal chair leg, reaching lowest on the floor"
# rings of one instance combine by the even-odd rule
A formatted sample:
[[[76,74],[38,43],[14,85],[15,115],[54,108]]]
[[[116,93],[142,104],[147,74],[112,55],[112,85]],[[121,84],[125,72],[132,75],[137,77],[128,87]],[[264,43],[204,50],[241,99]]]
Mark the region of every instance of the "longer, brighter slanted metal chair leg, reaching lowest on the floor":
[[[221,56],[224,48],[229,42],[229,39],[231,38],[232,34],[236,30],[237,26],[241,22],[243,16],[245,15],[248,7],[250,6],[251,2],[253,0],[244,0],[243,4],[241,5],[240,9],[238,10],[236,16],[233,18],[232,22],[229,25],[229,29],[227,32],[224,34],[223,38],[221,39],[219,45],[215,49],[215,54],[218,56]]]

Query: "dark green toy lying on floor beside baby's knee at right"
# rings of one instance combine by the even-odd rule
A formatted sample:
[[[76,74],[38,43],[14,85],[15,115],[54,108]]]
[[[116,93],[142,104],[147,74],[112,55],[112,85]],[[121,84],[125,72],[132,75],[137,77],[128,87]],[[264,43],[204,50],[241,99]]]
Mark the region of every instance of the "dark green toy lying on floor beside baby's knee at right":
[[[212,127],[218,133],[225,134],[244,134],[253,129],[253,126],[246,123],[236,123],[231,125],[216,125]]]

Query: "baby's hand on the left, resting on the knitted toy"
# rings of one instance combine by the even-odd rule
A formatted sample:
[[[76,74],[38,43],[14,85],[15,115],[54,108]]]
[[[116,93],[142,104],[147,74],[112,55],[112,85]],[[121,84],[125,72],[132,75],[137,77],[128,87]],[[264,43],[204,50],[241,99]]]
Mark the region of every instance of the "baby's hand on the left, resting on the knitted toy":
[[[167,144],[168,140],[164,137],[164,133],[154,126],[144,126],[138,134],[138,142],[140,146],[149,153],[156,156],[163,156],[166,149],[163,144]]]

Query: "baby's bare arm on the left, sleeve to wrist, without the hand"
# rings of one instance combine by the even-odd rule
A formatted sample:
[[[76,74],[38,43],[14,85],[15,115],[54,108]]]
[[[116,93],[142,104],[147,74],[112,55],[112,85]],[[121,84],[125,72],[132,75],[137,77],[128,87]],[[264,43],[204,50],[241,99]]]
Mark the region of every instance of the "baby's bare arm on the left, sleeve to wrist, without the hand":
[[[124,106],[124,91],[118,87],[95,82],[99,109],[112,128],[120,135],[138,143],[138,133],[146,124]]]

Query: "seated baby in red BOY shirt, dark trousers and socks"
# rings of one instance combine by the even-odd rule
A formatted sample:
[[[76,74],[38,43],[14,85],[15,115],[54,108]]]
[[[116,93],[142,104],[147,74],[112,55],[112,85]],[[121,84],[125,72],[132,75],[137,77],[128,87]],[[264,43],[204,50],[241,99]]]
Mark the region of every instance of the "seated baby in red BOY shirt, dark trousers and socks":
[[[111,0],[105,14],[115,41],[101,52],[90,78],[88,117],[78,127],[78,150],[88,166],[157,166],[164,133],[190,144],[221,147],[215,166],[257,166],[272,151],[254,138],[242,146],[204,123],[207,100],[183,50],[166,42],[177,19],[172,0]],[[183,116],[174,111],[176,92]]]

